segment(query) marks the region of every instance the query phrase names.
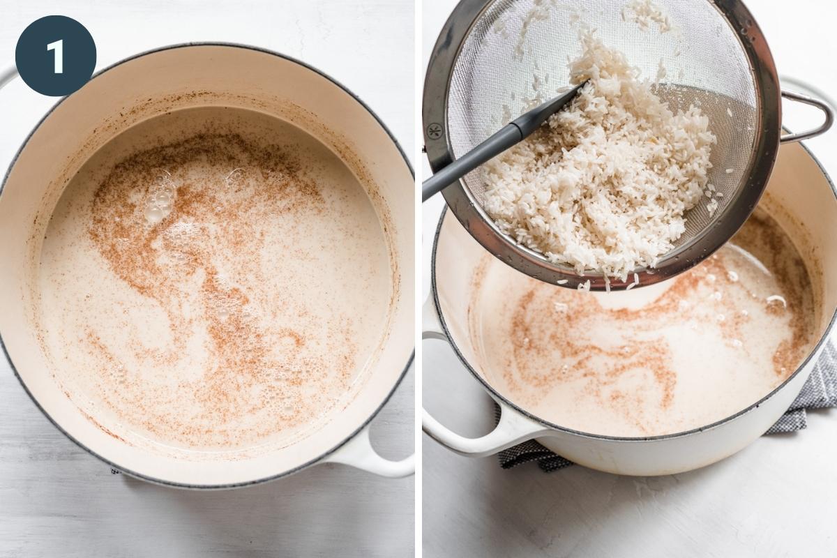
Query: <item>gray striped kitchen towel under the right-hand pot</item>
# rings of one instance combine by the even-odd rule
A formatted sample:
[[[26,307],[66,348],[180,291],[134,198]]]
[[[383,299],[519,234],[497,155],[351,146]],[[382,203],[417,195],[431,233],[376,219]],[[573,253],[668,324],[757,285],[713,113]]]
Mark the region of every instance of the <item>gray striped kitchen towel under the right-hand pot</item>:
[[[807,426],[806,409],[826,407],[837,407],[837,350],[834,349],[834,340],[829,340],[825,344],[822,356],[814,365],[814,371],[811,372],[811,376],[788,412],[784,413],[765,435],[802,430]],[[500,407],[496,407],[496,420],[500,420]],[[538,467],[546,473],[573,464],[572,461],[552,453],[534,440],[528,440],[500,452],[499,458],[502,468],[512,468],[521,463],[537,461]]]

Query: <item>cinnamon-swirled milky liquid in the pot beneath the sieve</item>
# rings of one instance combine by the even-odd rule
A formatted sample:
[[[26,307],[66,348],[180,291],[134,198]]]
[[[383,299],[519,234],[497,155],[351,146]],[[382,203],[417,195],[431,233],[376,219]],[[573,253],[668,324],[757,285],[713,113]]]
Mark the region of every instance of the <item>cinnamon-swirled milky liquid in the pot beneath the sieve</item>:
[[[585,433],[706,426],[767,395],[814,345],[808,272],[763,210],[696,268],[642,289],[573,291],[490,256],[474,284],[470,335],[486,380]]]

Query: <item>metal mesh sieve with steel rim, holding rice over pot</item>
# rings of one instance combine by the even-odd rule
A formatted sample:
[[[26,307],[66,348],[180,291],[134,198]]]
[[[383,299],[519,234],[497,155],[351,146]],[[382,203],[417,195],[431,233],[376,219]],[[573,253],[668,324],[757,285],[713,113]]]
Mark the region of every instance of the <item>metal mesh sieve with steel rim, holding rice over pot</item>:
[[[596,28],[644,78],[655,79],[661,63],[666,76],[656,86],[657,95],[672,110],[700,106],[709,119],[717,137],[709,182],[722,197],[712,214],[708,198],[687,212],[686,233],[675,248],[655,269],[635,270],[640,284],[689,269],[732,237],[761,196],[780,141],[776,69],[747,8],[727,0],[655,4],[675,30],[660,33],[656,24],[643,29],[625,21],[625,0],[463,0],[430,59],[423,107],[426,149],[438,171],[524,112],[532,100],[549,100],[567,87],[567,61],[581,52],[579,24]],[[482,210],[481,175],[480,169],[470,172],[446,188],[444,197],[485,248],[537,279],[569,287],[590,279],[592,289],[604,288],[600,274],[579,276],[501,233]],[[623,289],[632,282],[633,276],[625,283],[612,279],[610,287]]]

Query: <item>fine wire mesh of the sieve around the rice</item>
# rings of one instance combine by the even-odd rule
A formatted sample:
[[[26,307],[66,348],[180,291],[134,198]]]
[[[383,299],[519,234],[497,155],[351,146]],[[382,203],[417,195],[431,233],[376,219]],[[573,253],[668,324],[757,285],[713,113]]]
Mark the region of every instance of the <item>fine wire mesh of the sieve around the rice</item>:
[[[654,80],[661,60],[666,77],[658,86],[660,98],[672,110],[699,105],[709,118],[709,130],[718,140],[709,182],[723,197],[712,217],[707,199],[686,214],[686,233],[678,245],[687,243],[724,213],[749,176],[758,127],[757,85],[737,33],[711,3],[655,4],[670,15],[675,32],[660,33],[656,24],[642,30],[625,22],[624,0],[573,0],[572,6],[534,0],[491,3],[471,28],[451,76],[447,125],[454,156],[525,112],[527,101],[536,98],[536,79],[542,101],[566,88],[567,61],[581,52],[579,24],[589,25],[605,44],[622,51],[642,78]],[[546,18],[536,15],[526,25],[527,17],[537,13]],[[479,169],[471,172],[465,186],[482,205],[480,177]]]

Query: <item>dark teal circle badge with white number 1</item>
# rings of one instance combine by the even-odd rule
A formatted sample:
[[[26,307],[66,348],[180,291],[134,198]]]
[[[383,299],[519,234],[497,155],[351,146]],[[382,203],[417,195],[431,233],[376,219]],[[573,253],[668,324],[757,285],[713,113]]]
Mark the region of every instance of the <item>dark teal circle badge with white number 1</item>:
[[[62,97],[87,83],[96,67],[96,45],[84,25],[46,16],[23,29],[14,51],[23,81],[41,95]]]

